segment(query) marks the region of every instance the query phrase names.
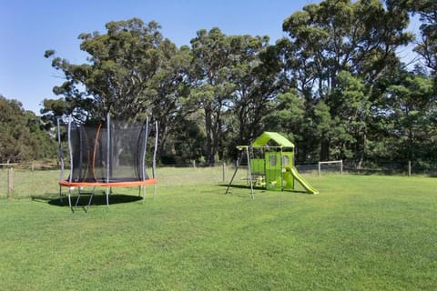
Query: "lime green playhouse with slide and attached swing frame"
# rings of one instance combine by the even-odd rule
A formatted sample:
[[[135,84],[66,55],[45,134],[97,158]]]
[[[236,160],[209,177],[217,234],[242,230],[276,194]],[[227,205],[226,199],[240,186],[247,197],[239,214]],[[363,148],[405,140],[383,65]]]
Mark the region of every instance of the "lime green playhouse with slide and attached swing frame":
[[[302,177],[294,166],[294,145],[283,135],[276,132],[264,132],[250,146],[237,146],[240,151],[239,162],[226,193],[242,165],[247,160],[247,180],[253,198],[253,188],[267,190],[294,190],[298,182],[308,194],[318,194]]]

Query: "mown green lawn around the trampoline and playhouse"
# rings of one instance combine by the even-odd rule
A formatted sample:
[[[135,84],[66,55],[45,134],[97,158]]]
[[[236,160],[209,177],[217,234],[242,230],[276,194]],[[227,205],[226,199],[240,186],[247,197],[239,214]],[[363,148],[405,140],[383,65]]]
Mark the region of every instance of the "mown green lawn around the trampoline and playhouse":
[[[155,200],[87,214],[56,192],[1,199],[0,289],[437,289],[435,178],[306,176],[320,195],[250,200],[220,175],[158,169]]]

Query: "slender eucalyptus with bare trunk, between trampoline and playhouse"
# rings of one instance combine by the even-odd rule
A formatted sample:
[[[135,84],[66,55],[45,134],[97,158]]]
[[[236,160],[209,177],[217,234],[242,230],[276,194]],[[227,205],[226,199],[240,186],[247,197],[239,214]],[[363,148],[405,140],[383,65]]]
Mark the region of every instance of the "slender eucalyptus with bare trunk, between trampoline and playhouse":
[[[205,156],[208,166],[215,164],[223,136],[223,115],[229,108],[235,85],[230,81],[230,38],[218,27],[198,31],[191,40],[192,69],[190,102],[198,105],[205,118]]]

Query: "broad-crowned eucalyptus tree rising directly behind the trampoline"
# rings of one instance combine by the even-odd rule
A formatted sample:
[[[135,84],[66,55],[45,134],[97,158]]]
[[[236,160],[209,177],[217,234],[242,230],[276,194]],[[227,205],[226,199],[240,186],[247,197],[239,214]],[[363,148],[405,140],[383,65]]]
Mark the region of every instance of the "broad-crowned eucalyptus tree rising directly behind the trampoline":
[[[53,59],[52,65],[66,78],[54,93],[64,97],[44,101],[45,120],[56,123],[69,114],[82,121],[104,121],[107,114],[119,120],[144,120],[151,115],[159,125],[158,153],[165,154],[177,120],[192,111],[184,105],[189,93],[189,48],[179,50],[163,39],[154,21],[145,25],[132,18],[109,22],[106,28],[106,34],[79,35],[80,47],[89,55],[86,64]],[[46,57],[54,54],[46,51]]]

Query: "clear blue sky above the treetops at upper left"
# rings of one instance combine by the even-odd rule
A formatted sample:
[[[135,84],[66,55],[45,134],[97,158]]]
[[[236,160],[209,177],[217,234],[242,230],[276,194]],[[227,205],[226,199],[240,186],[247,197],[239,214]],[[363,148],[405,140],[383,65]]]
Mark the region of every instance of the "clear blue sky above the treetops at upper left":
[[[133,17],[156,21],[176,45],[189,45],[200,29],[225,35],[282,36],[283,21],[320,0],[0,0],[0,95],[39,115],[45,98],[63,83],[44,57],[47,49],[72,64],[86,62],[77,36]],[[1,113],[0,113],[1,114]]]

